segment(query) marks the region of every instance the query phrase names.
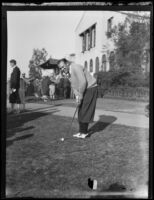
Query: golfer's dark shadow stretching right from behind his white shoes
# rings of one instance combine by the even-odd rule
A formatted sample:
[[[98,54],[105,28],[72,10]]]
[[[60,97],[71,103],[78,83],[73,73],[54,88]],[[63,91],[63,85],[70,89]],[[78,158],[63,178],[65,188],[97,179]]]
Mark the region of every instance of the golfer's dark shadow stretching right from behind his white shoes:
[[[100,115],[99,120],[88,130],[89,134],[87,137],[91,137],[94,133],[104,130],[116,120],[117,118],[114,116]]]

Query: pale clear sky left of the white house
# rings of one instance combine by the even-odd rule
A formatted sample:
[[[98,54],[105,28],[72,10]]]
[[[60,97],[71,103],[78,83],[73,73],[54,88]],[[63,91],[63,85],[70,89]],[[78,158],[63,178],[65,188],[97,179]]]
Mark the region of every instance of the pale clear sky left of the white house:
[[[10,59],[15,59],[21,73],[28,75],[34,48],[45,48],[48,57],[62,58],[75,53],[75,28],[83,11],[8,11],[7,78]]]

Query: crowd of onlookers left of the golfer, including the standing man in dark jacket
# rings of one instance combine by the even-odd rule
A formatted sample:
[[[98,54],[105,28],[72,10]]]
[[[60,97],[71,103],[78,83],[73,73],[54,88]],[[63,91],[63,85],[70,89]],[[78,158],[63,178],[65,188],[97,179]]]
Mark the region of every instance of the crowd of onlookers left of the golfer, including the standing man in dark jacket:
[[[10,65],[13,68],[9,81],[9,101],[11,103],[11,111],[14,112],[14,106],[17,104],[17,112],[25,110],[25,96],[33,96],[41,98],[44,101],[48,99],[70,98],[71,84],[70,75],[55,72],[50,75],[43,76],[42,79],[35,77],[26,78],[20,69],[16,66],[16,61],[11,60]]]

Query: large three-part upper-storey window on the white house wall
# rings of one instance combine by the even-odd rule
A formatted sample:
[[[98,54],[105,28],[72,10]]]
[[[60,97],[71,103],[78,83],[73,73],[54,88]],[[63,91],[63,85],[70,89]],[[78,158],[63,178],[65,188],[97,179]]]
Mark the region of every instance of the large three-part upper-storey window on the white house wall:
[[[82,37],[82,52],[90,50],[96,45],[96,25],[91,26],[89,29],[80,34]]]

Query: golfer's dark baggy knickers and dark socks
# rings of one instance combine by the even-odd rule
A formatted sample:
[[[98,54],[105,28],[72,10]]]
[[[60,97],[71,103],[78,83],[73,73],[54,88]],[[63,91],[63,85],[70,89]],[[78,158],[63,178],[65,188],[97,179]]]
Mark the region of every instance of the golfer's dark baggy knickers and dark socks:
[[[78,110],[79,132],[87,133],[88,125],[93,122],[98,96],[98,88],[88,88],[83,96],[83,100]]]

